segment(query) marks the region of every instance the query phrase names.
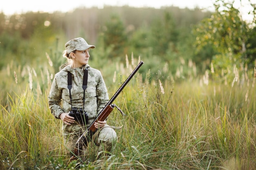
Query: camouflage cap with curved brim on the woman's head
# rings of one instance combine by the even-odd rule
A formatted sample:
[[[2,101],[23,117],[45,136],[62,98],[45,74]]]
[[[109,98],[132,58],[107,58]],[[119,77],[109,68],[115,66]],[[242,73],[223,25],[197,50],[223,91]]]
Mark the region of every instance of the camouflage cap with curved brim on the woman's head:
[[[83,38],[75,38],[73,40],[68,41],[65,44],[65,48],[67,53],[69,54],[75,50],[83,51],[86,49],[94,49],[95,46],[89,45]]]

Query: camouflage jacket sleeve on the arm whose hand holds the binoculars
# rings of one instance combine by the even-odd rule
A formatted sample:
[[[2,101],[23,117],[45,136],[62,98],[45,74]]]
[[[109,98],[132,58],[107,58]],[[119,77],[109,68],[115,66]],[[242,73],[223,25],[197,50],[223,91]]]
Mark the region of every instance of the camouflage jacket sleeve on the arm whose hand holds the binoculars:
[[[62,106],[61,106],[61,90],[58,89],[58,84],[56,81],[56,77],[54,77],[54,80],[52,82],[51,90],[48,96],[49,101],[49,108],[51,110],[52,115],[54,115],[55,118],[60,119],[60,114],[64,113]]]

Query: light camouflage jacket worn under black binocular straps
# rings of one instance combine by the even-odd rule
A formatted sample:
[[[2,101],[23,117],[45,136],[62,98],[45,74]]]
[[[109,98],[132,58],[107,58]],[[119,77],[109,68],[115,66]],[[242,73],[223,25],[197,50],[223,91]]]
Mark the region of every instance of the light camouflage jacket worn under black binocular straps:
[[[52,115],[60,119],[61,113],[71,111],[70,92],[67,88],[67,72],[72,74],[72,107],[83,108],[83,70],[88,68],[88,84],[85,90],[85,112],[89,116],[89,124],[97,117],[99,112],[109,101],[108,91],[101,75],[97,69],[91,68],[88,64],[80,68],[65,66],[56,73],[48,96],[49,108]]]

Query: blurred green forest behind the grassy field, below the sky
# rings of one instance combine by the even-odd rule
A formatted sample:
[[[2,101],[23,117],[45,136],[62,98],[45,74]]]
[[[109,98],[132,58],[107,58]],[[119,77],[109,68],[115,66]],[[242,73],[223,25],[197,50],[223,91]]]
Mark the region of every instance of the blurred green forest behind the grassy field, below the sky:
[[[255,9],[255,4],[252,7]],[[224,80],[234,66],[255,66],[255,17],[252,23],[243,21],[238,9],[222,0],[216,1],[215,8],[210,12],[198,8],[105,6],[67,13],[0,13],[1,77],[10,74],[10,67],[16,67],[19,81],[23,80],[27,66],[46,75],[47,57],[53,62],[54,74],[65,62],[65,42],[83,37],[96,46],[90,64],[101,71],[109,63],[125,62],[128,55],[146,62],[143,73],[148,69],[156,73],[168,64],[168,76],[182,78],[189,67],[196,66],[194,75],[204,75],[213,64]],[[255,16],[255,10],[249,12]],[[112,72],[104,72],[106,81]],[[11,86],[1,82],[0,87]]]

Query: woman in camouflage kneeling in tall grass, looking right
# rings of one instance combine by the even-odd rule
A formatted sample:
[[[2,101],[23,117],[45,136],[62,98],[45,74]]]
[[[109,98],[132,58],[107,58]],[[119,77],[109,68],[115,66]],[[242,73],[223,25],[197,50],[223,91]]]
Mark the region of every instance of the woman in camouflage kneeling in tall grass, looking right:
[[[63,121],[66,153],[73,157],[75,148],[78,149],[75,153],[77,156],[85,154],[88,142],[77,147],[76,141],[109,101],[100,71],[88,65],[89,51],[94,48],[95,46],[89,45],[83,38],[75,38],[65,44],[63,57],[67,57],[69,64],[55,75],[48,97],[52,114]],[[71,77],[69,81],[68,77]],[[88,116],[85,117],[86,123],[72,112],[76,108],[81,110],[78,115],[81,113],[82,117]],[[117,141],[115,130],[108,127],[106,121],[98,121],[94,126],[101,129],[95,141],[99,144],[98,151],[110,152]]]

